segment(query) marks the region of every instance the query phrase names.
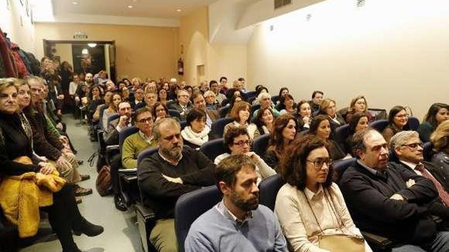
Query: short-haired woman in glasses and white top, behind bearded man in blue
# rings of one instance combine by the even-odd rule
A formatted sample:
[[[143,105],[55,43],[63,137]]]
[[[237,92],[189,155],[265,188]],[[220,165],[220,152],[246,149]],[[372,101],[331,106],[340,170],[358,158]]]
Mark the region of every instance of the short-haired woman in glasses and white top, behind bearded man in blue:
[[[251,157],[256,164],[257,184],[263,178],[276,174],[275,170],[271,169],[259,155],[250,152],[252,141],[248,131],[244,127],[233,127],[229,129],[223,138],[224,146],[229,148],[229,152],[218,155],[214,160],[215,164],[218,164],[221,160],[231,155],[245,154]]]

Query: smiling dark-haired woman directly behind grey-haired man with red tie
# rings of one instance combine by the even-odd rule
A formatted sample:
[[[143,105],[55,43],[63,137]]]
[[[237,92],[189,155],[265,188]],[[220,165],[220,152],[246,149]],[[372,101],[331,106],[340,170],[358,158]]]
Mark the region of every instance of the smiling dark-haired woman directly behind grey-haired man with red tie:
[[[408,121],[409,118],[405,107],[394,106],[391,108],[390,113],[388,113],[388,126],[384,129],[384,131],[382,131],[385,141],[389,143],[390,138],[397,132],[409,130],[409,126],[407,124]]]

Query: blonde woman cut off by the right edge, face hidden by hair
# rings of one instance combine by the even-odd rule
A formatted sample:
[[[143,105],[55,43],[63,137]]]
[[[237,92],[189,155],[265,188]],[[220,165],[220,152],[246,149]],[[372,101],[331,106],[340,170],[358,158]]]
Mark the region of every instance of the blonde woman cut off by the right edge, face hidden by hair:
[[[444,177],[449,178],[449,120],[446,120],[435,129],[430,136],[434,151],[432,162],[440,167]]]

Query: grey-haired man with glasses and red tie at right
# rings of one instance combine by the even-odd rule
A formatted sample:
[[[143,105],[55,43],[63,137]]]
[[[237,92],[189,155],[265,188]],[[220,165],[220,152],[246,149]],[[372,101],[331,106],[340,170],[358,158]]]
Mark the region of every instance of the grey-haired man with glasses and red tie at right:
[[[439,197],[430,204],[432,215],[441,217],[444,222],[449,220],[449,187],[444,174],[437,165],[423,161],[422,143],[416,131],[401,131],[390,139],[390,148],[398,158],[398,165],[419,176],[430,179],[438,190]],[[446,226],[446,225],[445,225]]]

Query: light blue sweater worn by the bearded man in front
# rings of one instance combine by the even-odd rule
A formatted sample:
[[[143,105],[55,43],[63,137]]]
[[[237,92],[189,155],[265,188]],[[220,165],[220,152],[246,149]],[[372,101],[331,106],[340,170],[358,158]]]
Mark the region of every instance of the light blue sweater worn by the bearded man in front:
[[[263,206],[253,211],[253,218],[238,226],[213,207],[199,216],[190,227],[185,251],[288,251],[278,219]]]

